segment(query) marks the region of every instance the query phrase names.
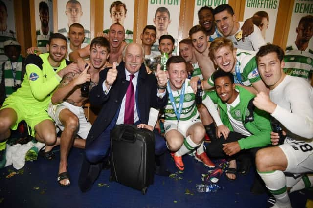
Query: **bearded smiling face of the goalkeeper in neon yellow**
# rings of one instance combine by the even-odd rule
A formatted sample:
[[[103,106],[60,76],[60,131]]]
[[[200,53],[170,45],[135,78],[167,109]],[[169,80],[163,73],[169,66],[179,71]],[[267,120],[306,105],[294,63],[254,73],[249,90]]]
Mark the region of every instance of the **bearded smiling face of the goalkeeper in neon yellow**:
[[[54,38],[50,45],[47,44],[47,50],[49,51],[49,59],[54,62],[61,62],[67,54],[67,42],[60,38]]]

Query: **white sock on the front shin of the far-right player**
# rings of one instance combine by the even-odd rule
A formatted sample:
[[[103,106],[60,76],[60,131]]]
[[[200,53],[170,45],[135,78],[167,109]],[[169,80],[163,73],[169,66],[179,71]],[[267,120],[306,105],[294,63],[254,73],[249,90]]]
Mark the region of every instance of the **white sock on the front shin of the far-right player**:
[[[287,193],[286,177],[283,171],[259,172],[269,192],[276,199],[276,206],[279,208],[291,208]],[[274,206],[275,207],[275,206]]]

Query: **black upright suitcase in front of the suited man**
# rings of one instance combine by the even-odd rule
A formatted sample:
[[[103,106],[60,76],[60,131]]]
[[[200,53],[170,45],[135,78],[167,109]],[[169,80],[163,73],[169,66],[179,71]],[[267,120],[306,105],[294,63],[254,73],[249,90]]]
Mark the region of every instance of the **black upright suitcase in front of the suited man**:
[[[154,180],[154,133],[135,125],[116,125],[110,139],[110,181],[141,190],[144,195]]]

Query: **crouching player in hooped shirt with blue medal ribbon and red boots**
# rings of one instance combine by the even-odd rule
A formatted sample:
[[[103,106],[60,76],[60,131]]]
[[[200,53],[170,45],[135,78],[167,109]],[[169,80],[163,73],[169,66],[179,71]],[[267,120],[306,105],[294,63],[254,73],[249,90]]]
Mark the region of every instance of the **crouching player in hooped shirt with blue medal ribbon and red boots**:
[[[166,62],[168,104],[165,106],[165,140],[168,149],[172,152],[175,165],[184,170],[182,156],[201,145],[205,129],[201,123],[195,94],[187,79],[186,62],[182,57],[173,56]],[[202,103],[208,108],[216,122],[218,135],[227,137],[229,129],[223,125],[212,100],[203,93]],[[150,124],[150,122],[149,122]],[[203,147],[197,148],[195,159],[205,166],[215,167],[207,157]]]

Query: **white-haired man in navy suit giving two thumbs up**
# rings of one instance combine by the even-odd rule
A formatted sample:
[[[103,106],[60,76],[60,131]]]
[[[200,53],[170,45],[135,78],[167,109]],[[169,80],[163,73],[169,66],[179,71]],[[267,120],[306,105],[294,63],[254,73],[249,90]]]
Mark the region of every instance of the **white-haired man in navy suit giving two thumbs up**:
[[[86,140],[85,158],[79,176],[79,186],[83,192],[91,188],[101,171],[101,162],[109,154],[110,130],[117,124],[125,123],[130,80],[135,95],[132,123],[147,124],[150,107],[158,109],[167,104],[165,71],[158,70],[156,76],[148,75],[143,59],[143,48],[137,43],[128,44],[123,51],[123,62],[117,67],[113,63],[111,69],[101,71],[98,85],[90,91],[90,104],[102,106],[102,109]],[[163,155],[166,149],[164,139],[156,137],[156,156]]]

